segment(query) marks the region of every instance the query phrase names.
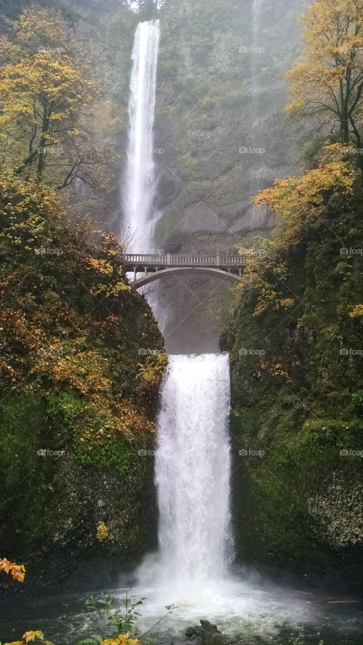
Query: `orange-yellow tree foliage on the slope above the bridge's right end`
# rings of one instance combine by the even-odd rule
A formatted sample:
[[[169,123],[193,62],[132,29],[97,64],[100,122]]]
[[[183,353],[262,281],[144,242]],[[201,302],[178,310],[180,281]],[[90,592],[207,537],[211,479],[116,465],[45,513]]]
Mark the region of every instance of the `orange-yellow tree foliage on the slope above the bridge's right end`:
[[[292,257],[314,237],[317,226],[324,226],[333,196],[346,203],[353,198],[355,172],[338,154],[338,144],[326,146],[318,162],[317,168],[302,177],[275,179],[272,188],[253,198],[256,206],[267,206],[275,213],[271,236],[261,239],[247,260],[246,272],[256,293],[255,317],[269,308],[278,311],[296,306],[291,296],[297,290],[286,288]]]

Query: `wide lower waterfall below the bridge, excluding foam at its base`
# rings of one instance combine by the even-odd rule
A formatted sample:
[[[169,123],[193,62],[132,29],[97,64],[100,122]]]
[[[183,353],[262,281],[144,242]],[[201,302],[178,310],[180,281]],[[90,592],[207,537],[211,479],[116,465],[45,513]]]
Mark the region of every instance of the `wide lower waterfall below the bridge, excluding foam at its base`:
[[[216,580],[231,558],[229,399],[226,354],[170,357],[155,461],[165,580]]]

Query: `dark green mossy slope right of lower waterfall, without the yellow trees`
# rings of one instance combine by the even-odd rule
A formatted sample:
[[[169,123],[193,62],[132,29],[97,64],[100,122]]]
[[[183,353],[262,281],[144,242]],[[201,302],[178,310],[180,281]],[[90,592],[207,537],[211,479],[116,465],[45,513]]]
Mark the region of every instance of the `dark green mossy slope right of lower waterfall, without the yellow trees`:
[[[331,568],[353,585],[362,573],[363,361],[341,349],[361,347],[362,323],[349,312],[363,301],[363,265],[342,257],[337,237],[360,248],[361,206],[357,181],[353,197],[327,199],[322,219],[306,226],[298,243],[288,246],[273,233],[273,266],[270,243],[260,243],[265,260],[225,313],[222,339],[231,357],[240,558],[285,568],[291,562],[294,572]],[[266,301],[256,313],[259,295],[271,289],[293,297],[293,308]],[[241,355],[242,348],[264,353]],[[240,457],[240,448],[264,455]]]

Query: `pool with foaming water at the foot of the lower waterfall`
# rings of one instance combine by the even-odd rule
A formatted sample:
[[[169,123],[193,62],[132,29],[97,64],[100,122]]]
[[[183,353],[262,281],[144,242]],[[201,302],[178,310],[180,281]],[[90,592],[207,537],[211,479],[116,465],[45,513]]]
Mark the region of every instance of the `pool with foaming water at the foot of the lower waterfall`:
[[[141,606],[140,627],[147,631],[166,613],[165,605],[178,608],[149,635],[155,643],[171,645],[182,640],[185,629],[201,618],[217,624],[220,631],[238,637],[243,645],[276,643],[291,645],[358,645],[362,642],[362,614],[358,604],[329,604],[333,595],[287,590],[253,581],[214,582],[183,592],[165,588],[107,590],[119,602],[126,592],[132,599],[146,597]],[[90,635],[85,611],[86,595],[69,595],[6,606],[1,618],[1,642],[19,639],[26,630],[42,630],[55,645],[74,645]],[[344,598],[346,599],[346,598]]]

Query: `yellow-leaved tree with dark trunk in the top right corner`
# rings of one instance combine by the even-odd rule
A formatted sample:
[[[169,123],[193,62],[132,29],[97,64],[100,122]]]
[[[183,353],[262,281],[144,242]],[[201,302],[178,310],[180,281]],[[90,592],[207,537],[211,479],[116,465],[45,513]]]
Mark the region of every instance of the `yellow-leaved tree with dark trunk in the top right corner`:
[[[363,0],[316,0],[300,22],[307,46],[285,75],[293,97],[287,112],[313,116],[332,134],[338,128],[342,146],[361,149]]]

